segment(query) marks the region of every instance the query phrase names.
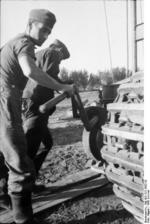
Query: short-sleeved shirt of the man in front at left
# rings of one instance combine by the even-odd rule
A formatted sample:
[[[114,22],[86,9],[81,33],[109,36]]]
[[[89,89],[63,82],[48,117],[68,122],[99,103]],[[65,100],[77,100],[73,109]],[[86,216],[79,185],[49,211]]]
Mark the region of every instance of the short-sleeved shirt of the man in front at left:
[[[1,48],[1,84],[7,89],[16,88],[21,91],[24,89],[28,79],[23,74],[18,58],[29,55],[35,60],[34,49],[32,39],[25,33],[19,34]]]

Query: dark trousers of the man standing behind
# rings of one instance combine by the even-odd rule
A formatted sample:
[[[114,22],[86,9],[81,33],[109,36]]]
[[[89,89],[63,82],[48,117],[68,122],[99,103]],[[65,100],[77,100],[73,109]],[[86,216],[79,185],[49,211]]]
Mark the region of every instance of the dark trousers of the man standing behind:
[[[23,113],[23,127],[27,139],[28,155],[34,161],[38,174],[45,157],[53,146],[53,139],[47,126],[49,113],[40,113],[39,104],[31,99],[24,99],[24,103],[26,106]],[[41,143],[44,148],[40,147]]]

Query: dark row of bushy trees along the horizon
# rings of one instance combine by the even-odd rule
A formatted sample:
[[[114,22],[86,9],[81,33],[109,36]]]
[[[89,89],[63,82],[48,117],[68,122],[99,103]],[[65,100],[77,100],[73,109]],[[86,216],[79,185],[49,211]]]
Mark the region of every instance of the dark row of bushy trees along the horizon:
[[[80,90],[98,89],[101,85],[111,85],[132,75],[126,68],[116,67],[112,71],[98,71],[97,74],[88,73],[86,70],[74,70],[69,72],[66,68],[60,71],[60,78],[63,81],[72,80]]]

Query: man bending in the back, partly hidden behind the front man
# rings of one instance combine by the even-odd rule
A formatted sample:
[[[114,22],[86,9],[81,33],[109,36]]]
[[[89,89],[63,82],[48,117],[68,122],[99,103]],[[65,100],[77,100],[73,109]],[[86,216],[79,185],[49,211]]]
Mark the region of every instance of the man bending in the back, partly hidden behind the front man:
[[[69,57],[70,53],[67,47],[61,41],[55,40],[48,48],[36,53],[36,64],[49,76],[62,83],[58,77],[60,71],[59,65],[62,60]],[[32,80],[28,81],[23,92],[23,105],[25,108],[23,113],[24,130],[28,143],[28,155],[34,160],[37,174],[53,145],[53,139],[47,125],[49,116],[56,109],[54,107],[45,114],[42,114],[39,111],[39,106],[53,97],[53,89],[40,86]],[[45,147],[39,150],[41,142]]]

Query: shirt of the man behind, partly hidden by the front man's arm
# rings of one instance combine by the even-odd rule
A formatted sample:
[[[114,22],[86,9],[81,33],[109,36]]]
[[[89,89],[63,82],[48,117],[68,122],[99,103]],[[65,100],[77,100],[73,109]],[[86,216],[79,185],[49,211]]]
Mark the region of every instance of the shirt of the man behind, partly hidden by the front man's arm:
[[[49,48],[36,53],[37,66],[57,81],[59,74],[59,55],[56,50]],[[23,92],[23,98],[30,98],[38,105],[45,103],[54,97],[54,90],[38,85],[33,80],[28,80]]]

